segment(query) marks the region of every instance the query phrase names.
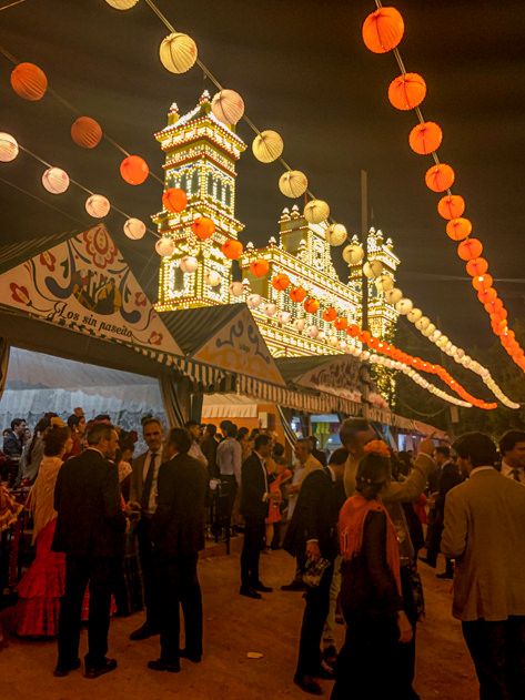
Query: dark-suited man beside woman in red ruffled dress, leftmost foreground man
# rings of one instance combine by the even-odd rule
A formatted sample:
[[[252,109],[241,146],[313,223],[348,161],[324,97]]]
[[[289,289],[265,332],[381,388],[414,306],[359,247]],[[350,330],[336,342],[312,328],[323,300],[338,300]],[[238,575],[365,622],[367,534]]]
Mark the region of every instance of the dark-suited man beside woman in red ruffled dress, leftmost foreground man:
[[[65,590],[59,618],[59,660],[55,676],[79,668],[82,599],[88,581],[89,651],[85,676],[97,678],[117,667],[108,652],[111,591],[123,555],[125,516],[113,459],[119,436],[112,425],[95,423],[88,449],[61,467],[54,489],[58,511],[52,550],[65,552]]]

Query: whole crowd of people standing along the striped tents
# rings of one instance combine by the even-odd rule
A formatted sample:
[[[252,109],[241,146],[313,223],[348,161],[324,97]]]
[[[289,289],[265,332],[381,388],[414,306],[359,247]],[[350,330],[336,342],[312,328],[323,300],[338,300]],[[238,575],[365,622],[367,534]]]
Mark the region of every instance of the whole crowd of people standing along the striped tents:
[[[329,459],[315,438],[303,437],[293,464],[270,432],[230,420],[219,429],[190,420],[165,434],[147,417],[142,437],[147,450],[133,458],[137,435],[109,416],[87,424],[81,409],[67,425],[48,414],[32,436],[22,419],[4,434],[0,468],[14,487],[31,486],[36,547],[18,585],[13,632],[58,637],[55,676],[80,667],[83,618],[85,676],[115,669],[110,615],[142,603],[145,620],[130,639],[160,635],[149,668],[178,672],[181,658],[200,662],[198,558],[208,527],[215,536],[243,532],[246,598],[272,592],[260,577],[262,555],[283,547],[295,558],[294,578],[281,589],[305,598],[293,679],[303,691],[322,694],[319,679],[332,679],[334,700],[417,699],[417,567],[421,560],[435,569],[442,552],[437,576],[454,578],[453,615],[481,698],[525,697],[525,432],[503,435],[499,454],[482,433],[452,446],[425,438],[414,459],[394,453],[365,418],[350,418]],[[0,505],[8,527],[21,506],[4,486]],[[337,613],[346,625],[339,652]]]

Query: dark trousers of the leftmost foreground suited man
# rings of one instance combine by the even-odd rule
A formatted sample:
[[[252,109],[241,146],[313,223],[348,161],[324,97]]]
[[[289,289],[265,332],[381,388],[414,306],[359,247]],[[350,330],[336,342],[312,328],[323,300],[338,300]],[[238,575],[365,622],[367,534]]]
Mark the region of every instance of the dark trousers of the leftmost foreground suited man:
[[[89,581],[88,666],[100,666],[108,653],[111,591],[119,560],[110,557],[65,557],[65,590],[59,617],[59,661],[74,663],[79,656],[82,600]]]

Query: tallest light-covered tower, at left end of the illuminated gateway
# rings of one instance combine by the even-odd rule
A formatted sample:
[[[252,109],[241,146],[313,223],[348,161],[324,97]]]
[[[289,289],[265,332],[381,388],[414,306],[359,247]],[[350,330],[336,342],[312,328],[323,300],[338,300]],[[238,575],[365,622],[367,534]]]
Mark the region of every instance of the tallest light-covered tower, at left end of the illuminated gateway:
[[[230,302],[232,261],[221,246],[229,237],[236,239],[244,225],[235,219],[235,162],[245,143],[213,115],[208,91],[198,105],[179,116],[176,104],[168,114],[168,125],[155,134],[165,153],[164,190],[181,187],[189,204],[182,214],[165,210],[152,216],[159,233],[175,242],[171,257],[163,257],[159,277],[159,311],[212,306]],[[199,216],[215,223],[215,233],[200,241],[191,224]],[[198,258],[193,273],[183,273],[180,263],[185,255]],[[210,286],[208,274],[220,275],[220,284]]]

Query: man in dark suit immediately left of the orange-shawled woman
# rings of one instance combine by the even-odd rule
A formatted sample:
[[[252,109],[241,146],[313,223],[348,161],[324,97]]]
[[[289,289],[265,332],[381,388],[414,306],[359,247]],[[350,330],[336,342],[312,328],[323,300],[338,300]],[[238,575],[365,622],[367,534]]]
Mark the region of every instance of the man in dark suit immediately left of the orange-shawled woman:
[[[342,485],[345,464],[332,464],[311,471],[303,481],[297,503],[284,538],[284,549],[296,557],[301,566],[330,561],[317,587],[306,589],[297,668],[294,683],[305,692],[321,694],[316,678],[333,678],[332,669],[322,663],[321,637],[330,608],[330,586],[337,554],[336,525],[344,503]]]

